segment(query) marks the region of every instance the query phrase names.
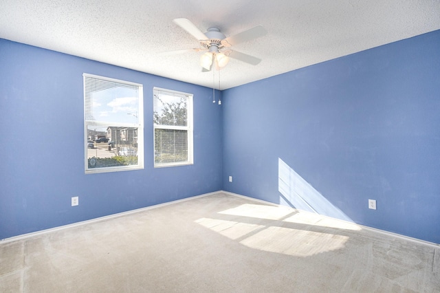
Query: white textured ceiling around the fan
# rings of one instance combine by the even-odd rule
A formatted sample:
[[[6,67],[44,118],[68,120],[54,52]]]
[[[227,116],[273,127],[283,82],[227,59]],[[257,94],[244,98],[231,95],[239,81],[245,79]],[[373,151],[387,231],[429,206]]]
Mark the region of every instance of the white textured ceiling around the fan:
[[[176,18],[226,36],[255,25],[268,31],[232,47],[263,61],[231,59],[220,72],[220,88],[228,89],[439,30],[440,1],[0,0],[0,38],[212,87],[200,52],[157,54],[198,47]]]

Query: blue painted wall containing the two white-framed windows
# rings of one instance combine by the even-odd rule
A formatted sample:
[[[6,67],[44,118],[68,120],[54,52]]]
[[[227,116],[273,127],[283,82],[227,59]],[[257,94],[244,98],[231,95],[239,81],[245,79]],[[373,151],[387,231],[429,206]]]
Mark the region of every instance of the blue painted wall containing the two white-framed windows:
[[[85,175],[83,73],[144,85],[143,170]],[[153,168],[153,87],[194,94],[195,164]],[[206,87],[0,39],[0,239],[219,191],[212,106]]]

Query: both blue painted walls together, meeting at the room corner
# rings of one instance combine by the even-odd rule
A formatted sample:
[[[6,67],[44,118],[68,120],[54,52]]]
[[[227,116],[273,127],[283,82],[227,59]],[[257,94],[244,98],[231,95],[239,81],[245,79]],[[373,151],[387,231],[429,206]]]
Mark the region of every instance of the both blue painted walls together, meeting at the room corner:
[[[219,107],[206,87],[0,39],[0,239],[223,188],[440,243],[439,47],[423,34]],[[84,72],[144,85],[144,170],[85,175]],[[153,168],[153,87],[194,94],[194,165]]]

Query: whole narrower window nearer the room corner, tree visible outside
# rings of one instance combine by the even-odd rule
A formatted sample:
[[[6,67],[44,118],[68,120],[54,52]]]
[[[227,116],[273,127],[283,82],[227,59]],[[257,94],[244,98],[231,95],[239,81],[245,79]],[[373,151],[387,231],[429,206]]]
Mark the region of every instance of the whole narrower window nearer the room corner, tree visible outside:
[[[192,164],[192,94],[153,89],[154,166]]]

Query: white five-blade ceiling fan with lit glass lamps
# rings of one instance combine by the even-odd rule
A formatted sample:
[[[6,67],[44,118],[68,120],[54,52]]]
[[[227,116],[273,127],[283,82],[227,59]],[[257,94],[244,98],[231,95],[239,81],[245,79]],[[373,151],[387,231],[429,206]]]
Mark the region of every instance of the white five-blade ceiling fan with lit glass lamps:
[[[202,72],[209,72],[213,68],[212,65],[214,65],[217,70],[225,67],[229,62],[229,57],[251,65],[257,65],[261,62],[260,58],[230,50],[230,47],[267,34],[267,31],[262,25],[256,25],[254,28],[226,38],[218,28],[208,28],[207,32],[203,33],[188,19],[174,19],[173,21],[194,36],[195,39],[199,40],[200,47],[166,52],[166,54],[206,51],[206,53],[200,57]]]

